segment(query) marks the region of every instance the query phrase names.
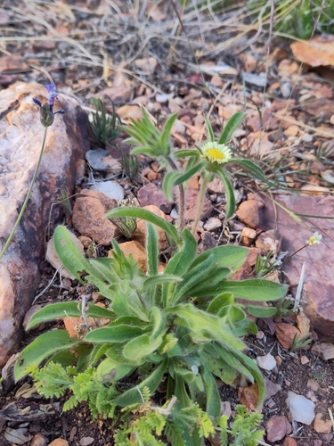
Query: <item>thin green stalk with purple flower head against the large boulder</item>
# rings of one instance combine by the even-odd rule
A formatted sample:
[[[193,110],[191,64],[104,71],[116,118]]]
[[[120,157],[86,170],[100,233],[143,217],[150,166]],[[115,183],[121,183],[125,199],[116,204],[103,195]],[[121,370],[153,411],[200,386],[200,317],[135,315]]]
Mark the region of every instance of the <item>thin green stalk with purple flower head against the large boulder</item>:
[[[44,137],[43,137],[43,143],[42,143],[42,148],[41,148],[41,152],[39,153],[39,157],[38,157],[38,161],[37,161],[37,166],[35,169],[35,173],[34,176],[31,180],[30,186],[29,186],[29,190],[27,193],[27,196],[23,202],[22,208],[20,210],[19,216],[15,221],[14,227],[12,228],[12,232],[8,237],[7,242],[4,244],[4,248],[2,249],[2,251],[0,252],[0,260],[3,258],[4,256],[4,252],[7,251],[7,248],[9,246],[9,244],[11,244],[12,242],[12,237],[14,236],[14,233],[16,231],[16,228],[19,226],[20,224],[20,219],[22,218],[24,211],[27,208],[27,204],[29,202],[29,198],[32,192],[32,189],[35,185],[36,179],[37,179],[37,175],[38,175],[38,170],[40,168],[41,165],[41,161],[42,161],[42,157],[43,157],[43,152],[45,149],[45,140],[46,140],[46,133],[47,133],[47,128],[50,127],[53,124],[53,120],[54,120],[54,115],[57,113],[64,113],[63,110],[59,110],[59,111],[53,111],[53,104],[54,104],[54,99],[56,99],[57,97],[57,93],[55,91],[55,85],[54,84],[46,84],[45,88],[48,92],[48,100],[47,103],[41,103],[37,98],[33,98],[34,103],[37,103],[39,109],[40,109],[40,120],[42,125],[45,127],[45,133],[44,133]]]

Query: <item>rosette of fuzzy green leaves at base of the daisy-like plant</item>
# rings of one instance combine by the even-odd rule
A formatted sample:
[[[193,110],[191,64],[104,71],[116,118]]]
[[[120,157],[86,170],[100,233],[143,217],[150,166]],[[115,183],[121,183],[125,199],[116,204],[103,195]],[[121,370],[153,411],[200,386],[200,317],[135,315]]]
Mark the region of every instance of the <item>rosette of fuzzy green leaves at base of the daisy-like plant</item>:
[[[45,359],[62,367],[74,365],[80,372],[94,368],[98,383],[117,384],[118,394],[110,394],[110,399],[119,407],[140,403],[140,391],[148,387],[153,394],[164,379],[167,399],[175,395],[181,408],[199,401],[209,417],[217,417],[216,377],[232,384],[242,374],[257,382],[259,402],[263,401],[263,376],[243,353],[246,346],[240,340],[240,336],[256,333],[257,326],[246,318],[244,306],[235,298],[273,301],[284,295],[285,286],[258,279],[228,280],[245,260],[245,248],[219,246],[196,257],[197,243],[188,229],[179,235],[173,225],[141,209],[117,208],[108,215],[120,216],[149,221],[147,274],[131,256],[125,257],[114,240],[112,258],[85,259],[68,229],[57,227],[53,240],[64,266],[82,284],[96,285],[110,305],[106,309],[96,305],[81,309],[77,302],[48,305],[30,319],[27,328],[65,315],[80,317],[83,310],[87,317],[108,318],[110,323],[94,328],[83,339],[70,338],[66,330],[39,335],[20,353],[15,378]],[[158,273],[158,236],[150,221],[164,228],[177,246],[163,274]],[[82,271],[85,279],[80,276]],[[252,305],[246,309],[257,313]],[[260,311],[269,316],[274,309]],[[136,376],[138,384],[125,389],[120,381],[125,376]],[[187,444],[198,444],[196,429],[188,435]]]

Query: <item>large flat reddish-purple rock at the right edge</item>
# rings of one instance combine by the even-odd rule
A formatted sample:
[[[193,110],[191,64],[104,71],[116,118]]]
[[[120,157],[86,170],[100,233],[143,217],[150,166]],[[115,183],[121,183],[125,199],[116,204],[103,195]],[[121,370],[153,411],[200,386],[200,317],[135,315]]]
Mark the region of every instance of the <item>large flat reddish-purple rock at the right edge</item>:
[[[334,220],[325,219],[334,215],[333,196],[297,196],[281,195],[275,197],[285,208],[298,214],[314,214],[324,217],[322,219],[323,238],[320,244],[307,246],[291,260],[283,265],[283,270],[289,278],[291,291],[295,295],[299,282],[300,271],[305,263],[305,282],[303,290],[303,303],[305,314],[310,318],[311,325],[318,335],[334,342],[334,241],[326,234],[332,234]],[[312,234],[307,228],[301,226],[280,206],[273,209],[273,203],[266,199],[264,209],[265,228],[275,227],[276,221],[281,234],[281,251],[292,254],[305,245]],[[319,230],[319,219],[307,219],[307,225],[313,231]]]

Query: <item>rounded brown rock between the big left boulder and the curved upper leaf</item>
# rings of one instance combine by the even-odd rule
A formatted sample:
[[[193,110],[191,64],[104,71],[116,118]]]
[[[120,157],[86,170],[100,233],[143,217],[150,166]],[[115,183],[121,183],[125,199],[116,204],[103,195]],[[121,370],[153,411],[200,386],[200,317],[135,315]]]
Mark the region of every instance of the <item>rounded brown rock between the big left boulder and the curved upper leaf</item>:
[[[111,200],[102,192],[83,189],[73,206],[73,226],[81,235],[92,238],[97,244],[108,245],[111,238],[119,235],[119,230],[104,216],[116,207],[116,200]]]

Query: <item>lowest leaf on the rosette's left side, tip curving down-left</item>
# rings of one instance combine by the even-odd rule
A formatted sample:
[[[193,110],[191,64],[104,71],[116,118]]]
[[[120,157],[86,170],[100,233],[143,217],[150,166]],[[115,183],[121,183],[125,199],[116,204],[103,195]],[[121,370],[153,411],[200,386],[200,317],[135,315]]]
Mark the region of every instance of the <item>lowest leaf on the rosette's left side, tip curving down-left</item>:
[[[14,366],[15,381],[26,375],[28,366],[38,367],[40,363],[55,352],[70,349],[80,343],[77,338],[70,338],[67,330],[52,330],[39,335],[20,352]]]

